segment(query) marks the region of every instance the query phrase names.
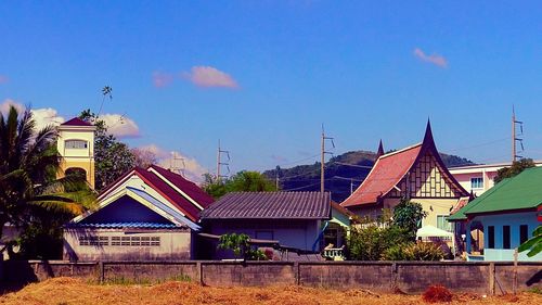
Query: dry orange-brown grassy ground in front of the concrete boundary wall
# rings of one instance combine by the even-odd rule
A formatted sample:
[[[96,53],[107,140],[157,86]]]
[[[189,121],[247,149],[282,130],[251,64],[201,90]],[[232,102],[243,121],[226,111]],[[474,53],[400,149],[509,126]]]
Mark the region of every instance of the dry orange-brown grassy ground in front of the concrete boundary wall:
[[[190,282],[153,285],[92,284],[72,278],[55,278],[33,283],[0,296],[0,304],[416,304],[420,295],[378,294],[364,290],[325,290],[302,287],[211,288]],[[482,297],[454,295],[451,304],[542,304],[542,294],[521,293]]]

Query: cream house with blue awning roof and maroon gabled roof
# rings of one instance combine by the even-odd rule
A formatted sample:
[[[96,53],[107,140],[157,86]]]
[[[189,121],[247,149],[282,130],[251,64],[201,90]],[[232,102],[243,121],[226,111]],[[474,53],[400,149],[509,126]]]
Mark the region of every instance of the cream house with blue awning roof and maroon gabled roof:
[[[212,198],[156,165],[133,168],[98,198],[99,207],[64,228],[69,260],[188,259],[198,214]]]

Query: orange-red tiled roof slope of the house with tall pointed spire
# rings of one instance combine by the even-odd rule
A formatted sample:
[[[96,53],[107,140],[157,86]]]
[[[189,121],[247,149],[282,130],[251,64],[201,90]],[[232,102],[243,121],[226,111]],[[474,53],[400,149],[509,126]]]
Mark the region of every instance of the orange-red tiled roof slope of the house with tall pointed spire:
[[[387,194],[401,181],[414,165],[421,150],[422,143],[378,157],[365,180],[340,205],[376,203],[379,196]]]

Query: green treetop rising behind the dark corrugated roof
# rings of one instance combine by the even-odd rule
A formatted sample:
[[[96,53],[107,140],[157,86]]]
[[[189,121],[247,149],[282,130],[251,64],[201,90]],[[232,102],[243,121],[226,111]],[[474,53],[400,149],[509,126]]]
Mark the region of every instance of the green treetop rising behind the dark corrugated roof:
[[[217,179],[210,174],[204,175],[203,189],[219,199],[229,192],[273,192],[276,186],[258,171],[238,171],[229,179]]]

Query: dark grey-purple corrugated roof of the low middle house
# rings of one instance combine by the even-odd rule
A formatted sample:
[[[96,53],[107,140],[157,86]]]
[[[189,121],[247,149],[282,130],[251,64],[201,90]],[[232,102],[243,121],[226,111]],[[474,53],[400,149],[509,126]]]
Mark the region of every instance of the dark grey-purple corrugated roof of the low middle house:
[[[330,193],[234,192],[202,212],[202,219],[328,219]]]

